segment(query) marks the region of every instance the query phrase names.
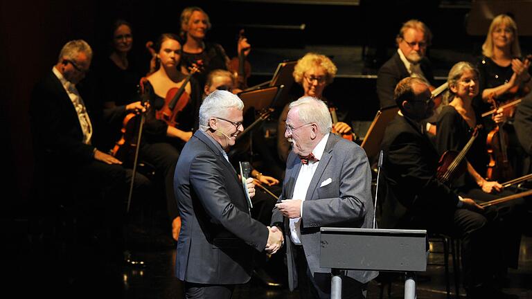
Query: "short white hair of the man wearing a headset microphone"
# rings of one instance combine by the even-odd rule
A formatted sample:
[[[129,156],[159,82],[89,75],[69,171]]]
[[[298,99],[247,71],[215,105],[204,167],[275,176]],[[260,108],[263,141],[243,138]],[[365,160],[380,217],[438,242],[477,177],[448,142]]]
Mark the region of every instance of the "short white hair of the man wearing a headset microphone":
[[[227,109],[244,109],[244,103],[238,96],[229,91],[216,90],[209,94],[199,107],[199,129],[209,129],[209,119],[212,117],[226,117]]]

